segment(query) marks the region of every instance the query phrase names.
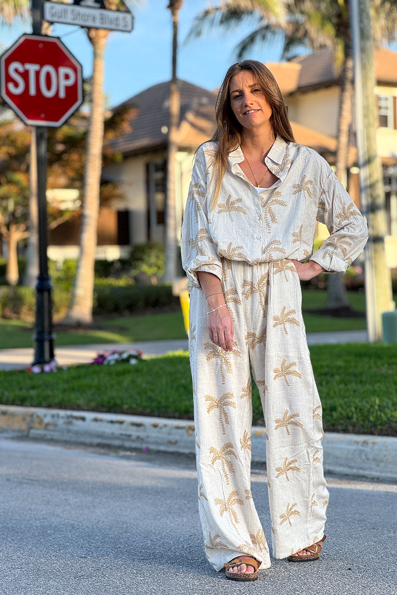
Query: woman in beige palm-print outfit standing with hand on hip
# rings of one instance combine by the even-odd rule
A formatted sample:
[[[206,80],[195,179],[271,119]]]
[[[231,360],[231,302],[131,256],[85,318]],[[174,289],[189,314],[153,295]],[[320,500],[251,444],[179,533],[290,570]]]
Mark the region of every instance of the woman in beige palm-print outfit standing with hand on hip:
[[[229,68],[216,119],[196,154],[182,227],[199,511],[215,570],[255,580],[270,556],[251,495],[250,364],[266,423],[273,555],[313,560],[329,494],[299,280],[345,271],[367,226],[327,162],[295,143],[261,62]],[[330,236],[312,255],[316,220]]]

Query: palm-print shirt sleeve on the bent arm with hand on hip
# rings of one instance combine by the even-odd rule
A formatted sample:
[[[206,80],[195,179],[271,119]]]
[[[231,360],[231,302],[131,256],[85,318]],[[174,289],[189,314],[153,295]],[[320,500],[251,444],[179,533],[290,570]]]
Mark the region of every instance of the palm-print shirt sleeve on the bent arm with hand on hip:
[[[368,227],[333,171],[330,171],[321,190],[317,221],[327,226],[330,236],[310,260],[326,271],[343,273],[364,248]]]

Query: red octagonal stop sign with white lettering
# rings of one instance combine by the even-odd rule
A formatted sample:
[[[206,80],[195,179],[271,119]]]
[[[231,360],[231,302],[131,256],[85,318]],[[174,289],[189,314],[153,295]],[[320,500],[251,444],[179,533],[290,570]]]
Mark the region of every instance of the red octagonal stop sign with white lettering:
[[[30,126],[61,126],[83,102],[82,66],[58,37],[22,35],[0,57],[0,94]]]

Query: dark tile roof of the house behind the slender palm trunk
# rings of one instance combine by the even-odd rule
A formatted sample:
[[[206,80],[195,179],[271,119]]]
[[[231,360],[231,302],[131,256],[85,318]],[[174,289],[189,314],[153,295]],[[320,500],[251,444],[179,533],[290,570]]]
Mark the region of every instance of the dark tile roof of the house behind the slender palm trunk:
[[[212,136],[216,93],[179,80],[181,109],[179,143],[196,149]],[[112,141],[115,151],[124,155],[167,146],[170,82],[156,84],[133,96],[119,107],[132,105],[138,113],[131,121],[132,131]],[[114,108],[114,109],[117,109]]]

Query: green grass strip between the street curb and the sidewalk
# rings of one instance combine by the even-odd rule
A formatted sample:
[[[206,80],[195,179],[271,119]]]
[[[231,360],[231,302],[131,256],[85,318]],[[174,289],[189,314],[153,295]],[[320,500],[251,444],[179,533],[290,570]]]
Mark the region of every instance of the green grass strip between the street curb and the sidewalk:
[[[310,352],[324,430],[397,436],[397,345],[317,345]],[[179,352],[134,366],[0,372],[0,402],[191,419],[189,358]],[[256,387],[252,405],[254,424],[263,423]]]

